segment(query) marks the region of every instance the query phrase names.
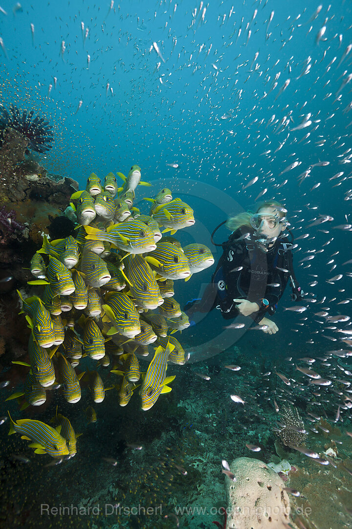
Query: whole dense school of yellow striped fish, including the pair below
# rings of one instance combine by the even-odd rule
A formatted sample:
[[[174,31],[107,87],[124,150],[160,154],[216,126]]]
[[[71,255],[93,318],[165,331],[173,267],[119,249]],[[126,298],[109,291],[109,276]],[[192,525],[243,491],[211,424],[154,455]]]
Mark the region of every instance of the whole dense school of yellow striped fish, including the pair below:
[[[36,279],[28,281],[42,288],[42,294],[24,298],[18,291],[31,334],[29,363],[14,363],[29,370],[23,391],[7,400],[17,398],[21,410],[43,405],[50,389],[61,391],[66,402],[78,403],[81,381],[87,382],[96,404],[107,390],[115,390],[120,406],[126,406],[139,388],[141,409],[148,410],[172,390],[175,376],[167,376],[168,363],[183,366],[186,361],[174,333],[186,329],[189,321],[174,298],[174,280],[187,281],[214,258],[204,244],[182,248],[173,237],[195,222],[188,204],[165,188],[146,198],[150,215],[141,215],[133,206],[135,189],[149,184],[141,181],[140,167],[132,166],[127,178],[120,172],[118,176],[122,187],[112,172],[103,185],[92,173],[86,189],[72,195],[77,238],[49,241],[44,235],[30,265]],[[153,358],[148,359],[148,345],[154,343]],[[83,371],[79,364],[84,357],[90,365]],[[145,372],[141,358],[150,360]],[[110,387],[104,387],[99,366],[109,366],[116,375]],[[96,421],[92,406],[86,412],[90,422]],[[17,432],[31,441],[35,453],[59,459],[77,453],[78,435],[58,409],[55,426],[10,420],[9,434]]]

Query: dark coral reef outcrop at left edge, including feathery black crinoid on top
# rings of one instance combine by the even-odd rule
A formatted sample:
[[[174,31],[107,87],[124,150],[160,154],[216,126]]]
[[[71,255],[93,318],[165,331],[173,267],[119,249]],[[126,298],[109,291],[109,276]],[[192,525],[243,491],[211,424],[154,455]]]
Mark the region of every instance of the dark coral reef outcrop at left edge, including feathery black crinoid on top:
[[[16,107],[7,112],[0,106],[0,271],[5,278],[0,288],[3,366],[21,357],[27,349],[29,332],[24,322],[18,322],[16,287],[21,288],[31,279],[25,267],[41,246],[44,233],[61,238],[72,232],[73,224],[66,219],[58,229],[58,222],[63,219],[58,215],[63,215],[70,196],[78,189],[78,183],[71,178],[57,178],[58,181],[47,178],[39,158],[28,151],[47,151],[53,140],[49,124],[33,115],[32,111],[21,114]]]

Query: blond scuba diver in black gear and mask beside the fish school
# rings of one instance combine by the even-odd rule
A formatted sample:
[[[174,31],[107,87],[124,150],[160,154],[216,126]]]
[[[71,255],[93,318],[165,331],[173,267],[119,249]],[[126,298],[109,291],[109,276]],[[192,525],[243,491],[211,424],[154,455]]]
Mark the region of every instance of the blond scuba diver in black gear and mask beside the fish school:
[[[304,295],[293,271],[293,242],[283,234],[287,229],[293,240],[286,213],[286,208],[271,200],[261,204],[256,213],[240,213],[215,228],[211,241],[222,246],[223,254],[203,297],[184,307],[189,317],[218,308],[226,320],[242,314],[263,326],[265,333],[279,330],[268,316],[275,313],[288,281],[293,301]],[[216,244],[213,235],[225,223],[232,233],[229,240]]]

